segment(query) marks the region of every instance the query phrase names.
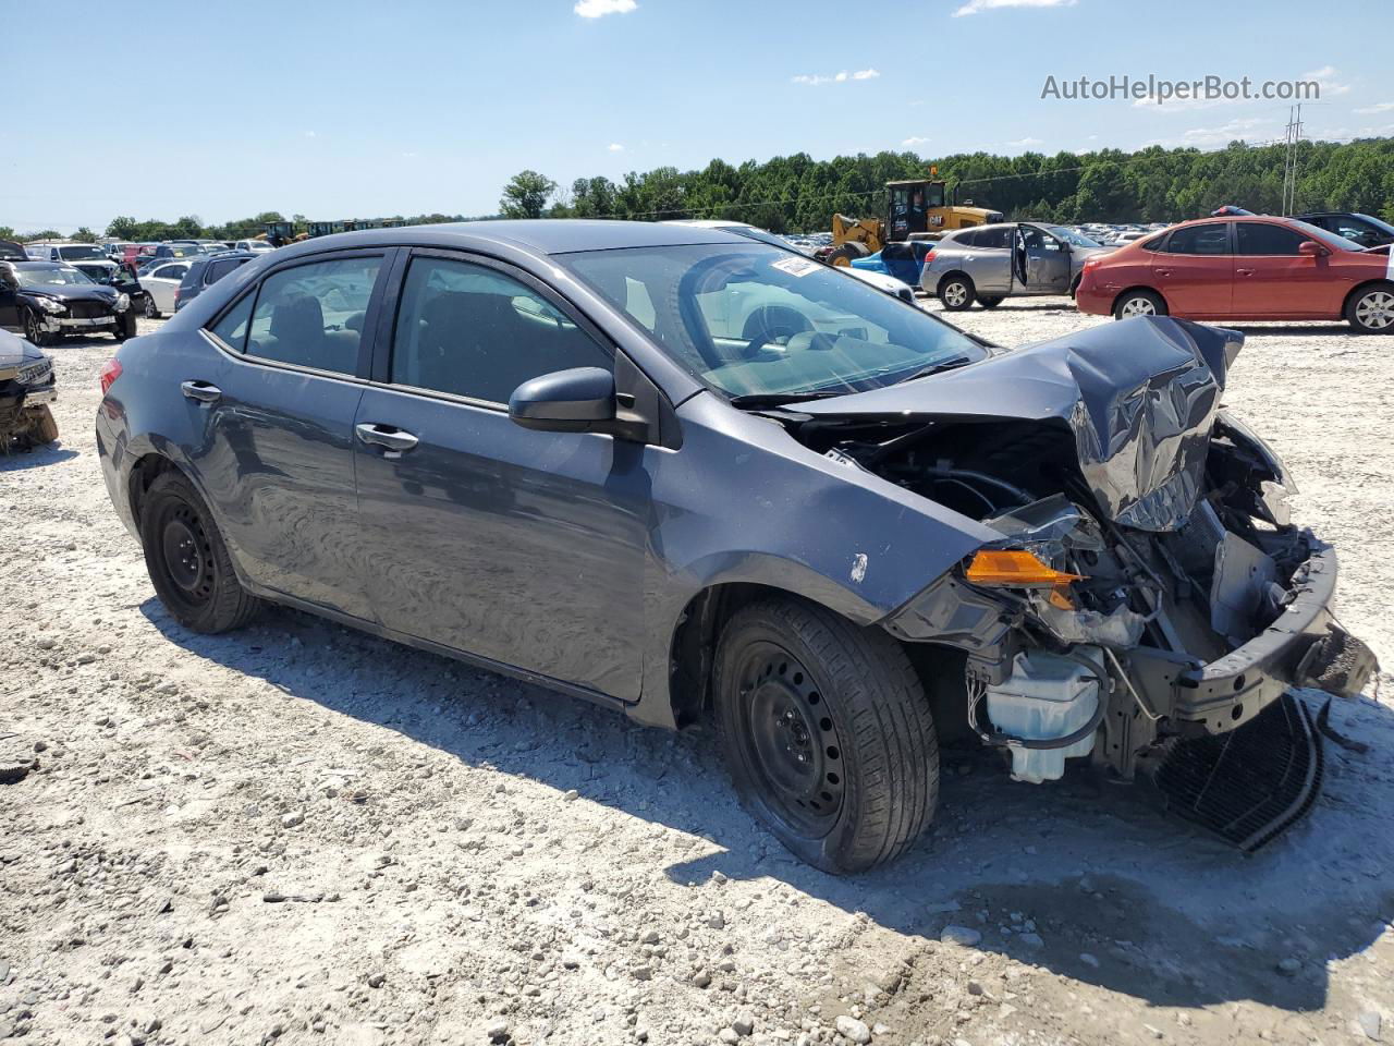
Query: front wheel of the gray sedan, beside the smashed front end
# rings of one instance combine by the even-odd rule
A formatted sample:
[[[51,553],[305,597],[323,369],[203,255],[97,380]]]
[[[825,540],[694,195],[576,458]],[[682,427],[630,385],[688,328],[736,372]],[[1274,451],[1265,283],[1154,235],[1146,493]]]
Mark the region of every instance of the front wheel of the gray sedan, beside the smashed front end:
[[[934,720],[889,636],[804,602],[750,604],[721,633],[715,702],[742,803],[814,867],[892,861],[934,817]]]

